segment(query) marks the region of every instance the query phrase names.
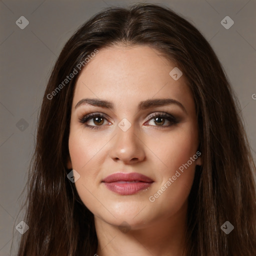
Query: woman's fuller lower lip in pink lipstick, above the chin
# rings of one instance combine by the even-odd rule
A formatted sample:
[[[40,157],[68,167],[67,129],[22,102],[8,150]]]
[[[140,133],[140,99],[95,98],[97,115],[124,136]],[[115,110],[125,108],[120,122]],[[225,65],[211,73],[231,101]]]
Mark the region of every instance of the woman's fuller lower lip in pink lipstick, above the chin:
[[[104,182],[104,184],[109,190],[117,194],[129,195],[129,194],[135,194],[140,190],[144,190],[148,188],[152,183],[147,183],[147,182],[120,183],[116,181],[116,182],[110,182],[110,183]]]

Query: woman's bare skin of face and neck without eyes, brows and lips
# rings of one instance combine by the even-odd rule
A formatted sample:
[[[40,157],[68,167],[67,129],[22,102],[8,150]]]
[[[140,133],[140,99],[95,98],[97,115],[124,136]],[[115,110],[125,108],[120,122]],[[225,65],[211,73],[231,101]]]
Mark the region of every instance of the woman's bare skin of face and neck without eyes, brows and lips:
[[[175,64],[149,46],[116,45],[100,49],[81,71],[74,90],[71,109],[67,167],[80,177],[77,192],[94,214],[98,237],[95,253],[105,255],[185,255],[187,197],[195,165],[184,169],[153,202],[161,186],[193,156],[198,147],[198,127],[192,94],[182,75],[174,80],[169,72]],[[82,98],[111,101],[113,109],[81,104]],[[177,104],[138,110],[140,101],[172,98]],[[79,118],[88,113],[103,113],[101,126],[93,118],[86,127]],[[159,127],[151,113],[167,112],[178,119],[166,118]],[[158,116],[158,117],[159,117]],[[118,123],[126,118],[131,126],[123,131]],[[171,124],[170,126],[167,126]],[[102,179],[115,172],[138,172],[154,182],[148,189],[132,195],[108,190]],[[125,221],[127,229],[118,228]]]

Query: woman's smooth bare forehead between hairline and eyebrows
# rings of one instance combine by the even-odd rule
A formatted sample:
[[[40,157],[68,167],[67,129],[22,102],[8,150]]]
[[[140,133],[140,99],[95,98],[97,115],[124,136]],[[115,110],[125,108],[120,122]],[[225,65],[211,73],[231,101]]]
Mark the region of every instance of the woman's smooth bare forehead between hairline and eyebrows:
[[[104,98],[116,104],[148,98],[191,100],[183,75],[174,80],[175,64],[150,46],[113,46],[100,49],[82,69],[73,104],[82,97]]]

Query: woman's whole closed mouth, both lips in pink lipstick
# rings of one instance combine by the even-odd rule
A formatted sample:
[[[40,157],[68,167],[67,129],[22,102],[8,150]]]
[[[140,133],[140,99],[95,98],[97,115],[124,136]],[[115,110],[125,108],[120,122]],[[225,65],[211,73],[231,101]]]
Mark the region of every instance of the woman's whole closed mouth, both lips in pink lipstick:
[[[153,180],[137,172],[117,172],[107,176],[102,182],[115,193],[129,195],[148,188]]]

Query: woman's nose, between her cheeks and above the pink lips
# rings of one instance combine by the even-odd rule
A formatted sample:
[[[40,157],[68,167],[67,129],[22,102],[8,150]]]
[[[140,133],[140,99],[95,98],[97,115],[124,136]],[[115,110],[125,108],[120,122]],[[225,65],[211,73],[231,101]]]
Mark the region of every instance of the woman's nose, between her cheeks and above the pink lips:
[[[144,160],[144,144],[139,137],[139,132],[136,132],[133,126],[131,125],[126,131],[116,127],[117,134],[113,138],[110,149],[110,157],[114,161],[133,164]]]

